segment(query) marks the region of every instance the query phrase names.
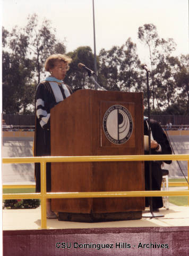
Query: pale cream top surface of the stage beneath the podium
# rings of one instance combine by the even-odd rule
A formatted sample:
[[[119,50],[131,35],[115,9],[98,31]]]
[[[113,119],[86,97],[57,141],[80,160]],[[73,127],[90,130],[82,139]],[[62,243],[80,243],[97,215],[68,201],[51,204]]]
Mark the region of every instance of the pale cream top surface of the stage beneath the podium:
[[[176,206],[170,204],[169,210],[161,208],[159,213],[164,214],[164,217],[97,223],[70,222],[58,221],[57,219],[47,219],[47,227],[48,229],[74,229],[189,226],[189,206]],[[39,229],[41,226],[40,219],[40,207],[31,210],[3,210],[3,230]]]

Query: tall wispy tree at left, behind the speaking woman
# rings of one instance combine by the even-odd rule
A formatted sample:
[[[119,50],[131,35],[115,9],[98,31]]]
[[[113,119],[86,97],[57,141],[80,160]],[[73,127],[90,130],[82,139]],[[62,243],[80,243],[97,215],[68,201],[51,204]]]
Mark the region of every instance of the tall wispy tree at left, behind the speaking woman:
[[[65,45],[57,41],[50,21],[39,26],[36,14],[23,28],[3,28],[2,45],[3,113],[31,113],[45,60],[50,54],[65,53]]]

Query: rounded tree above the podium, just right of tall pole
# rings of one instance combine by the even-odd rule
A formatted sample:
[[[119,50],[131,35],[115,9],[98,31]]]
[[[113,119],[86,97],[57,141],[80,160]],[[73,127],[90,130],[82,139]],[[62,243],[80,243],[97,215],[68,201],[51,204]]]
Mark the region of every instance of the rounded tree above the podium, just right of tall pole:
[[[100,81],[108,90],[138,91],[143,84],[139,72],[140,60],[136,44],[128,38],[121,47],[113,46],[109,51],[102,49],[99,54]]]

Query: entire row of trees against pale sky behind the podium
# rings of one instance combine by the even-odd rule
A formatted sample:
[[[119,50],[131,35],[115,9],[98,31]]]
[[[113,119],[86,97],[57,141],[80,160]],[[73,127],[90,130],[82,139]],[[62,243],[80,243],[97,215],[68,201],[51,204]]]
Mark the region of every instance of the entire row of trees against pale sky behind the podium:
[[[175,57],[173,39],[160,38],[156,26],[144,24],[138,29],[140,42],[149,51],[150,102],[152,113],[188,115],[189,55]],[[88,74],[78,68],[83,63],[94,69],[94,55],[89,46],[66,53],[64,42],[56,38],[49,20],[41,24],[33,14],[23,28],[2,29],[3,113],[29,114],[34,106],[37,84],[44,78],[44,63],[50,54],[62,53],[72,58],[65,83],[73,89],[94,89]],[[141,68],[137,47],[131,38],[121,46],[101,49],[97,56],[97,82],[111,91],[144,92],[147,103],[146,72]]]

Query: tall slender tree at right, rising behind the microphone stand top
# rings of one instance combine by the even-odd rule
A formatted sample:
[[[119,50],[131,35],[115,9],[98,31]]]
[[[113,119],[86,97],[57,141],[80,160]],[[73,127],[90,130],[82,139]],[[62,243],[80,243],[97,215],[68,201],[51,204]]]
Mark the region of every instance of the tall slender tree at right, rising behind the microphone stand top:
[[[153,24],[144,24],[143,27],[139,27],[138,38],[142,43],[147,45],[149,49],[153,109],[155,108],[155,99],[158,108],[165,106],[166,103],[169,106],[171,103],[171,95],[174,94],[176,89],[173,76],[171,75],[169,61],[171,60],[171,53],[175,50],[176,44],[171,38],[167,40],[164,38],[160,39],[157,28]]]

